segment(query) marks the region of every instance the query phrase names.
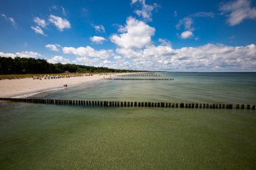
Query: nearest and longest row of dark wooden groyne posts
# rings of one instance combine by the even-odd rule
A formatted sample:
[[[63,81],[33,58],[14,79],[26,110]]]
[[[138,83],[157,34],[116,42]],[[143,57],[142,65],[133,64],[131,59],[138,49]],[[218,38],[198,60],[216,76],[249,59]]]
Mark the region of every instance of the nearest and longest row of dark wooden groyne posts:
[[[100,107],[140,107],[140,108],[205,108],[205,109],[247,109],[255,110],[255,105],[224,104],[224,103],[169,103],[169,102],[138,102],[138,101],[91,101],[67,99],[28,99],[28,98],[0,98],[5,101],[42,103],[52,105],[84,105]]]

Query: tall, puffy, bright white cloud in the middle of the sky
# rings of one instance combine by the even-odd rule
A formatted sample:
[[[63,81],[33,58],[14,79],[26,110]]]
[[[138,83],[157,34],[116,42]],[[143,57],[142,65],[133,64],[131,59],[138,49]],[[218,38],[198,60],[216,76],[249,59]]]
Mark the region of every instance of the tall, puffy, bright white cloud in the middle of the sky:
[[[126,32],[120,35],[114,34],[110,40],[123,48],[143,48],[152,44],[151,36],[155,33],[152,28],[133,17],[128,17],[125,26]]]

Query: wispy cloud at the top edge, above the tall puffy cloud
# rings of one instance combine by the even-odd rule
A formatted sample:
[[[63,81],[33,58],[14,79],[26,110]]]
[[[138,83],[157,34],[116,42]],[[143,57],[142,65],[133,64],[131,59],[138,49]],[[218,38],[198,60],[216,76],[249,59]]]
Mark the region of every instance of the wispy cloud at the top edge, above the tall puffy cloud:
[[[153,5],[147,5],[146,0],[131,0],[131,4],[139,3],[141,5],[141,10],[135,10],[134,12],[142,17],[143,19],[146,19],[146,21],[152,21],[152,11],[158,7],[156,3]]]

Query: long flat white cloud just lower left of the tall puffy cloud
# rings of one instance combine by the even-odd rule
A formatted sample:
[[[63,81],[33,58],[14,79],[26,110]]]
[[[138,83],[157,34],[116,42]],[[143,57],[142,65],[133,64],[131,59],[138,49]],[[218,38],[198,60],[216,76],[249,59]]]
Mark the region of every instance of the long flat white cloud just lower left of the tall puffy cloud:
[[[108,58],[113,56],[113,50],[94,50],[90,46],[81,46],[78,48],[64,47],[62,50],[65,54],[74,54],[82,57]]]

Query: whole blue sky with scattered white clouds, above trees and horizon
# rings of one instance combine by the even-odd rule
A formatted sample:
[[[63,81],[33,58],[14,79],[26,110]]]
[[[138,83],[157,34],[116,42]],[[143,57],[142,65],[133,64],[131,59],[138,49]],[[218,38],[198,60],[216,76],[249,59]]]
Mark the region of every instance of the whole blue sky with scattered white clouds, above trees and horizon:
[[[147,71],[256,71],[256,1],[1,0],[0,56]]]

